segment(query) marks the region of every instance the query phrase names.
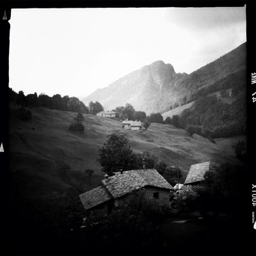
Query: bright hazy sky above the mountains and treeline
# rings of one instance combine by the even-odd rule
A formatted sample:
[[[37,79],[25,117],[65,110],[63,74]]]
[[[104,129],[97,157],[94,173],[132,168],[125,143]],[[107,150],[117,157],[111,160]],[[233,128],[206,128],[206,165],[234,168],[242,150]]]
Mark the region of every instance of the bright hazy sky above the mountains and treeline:
[[[243,8],[12,10],[10,87],[83,97],[156,60],[188,74],[246,42]]]

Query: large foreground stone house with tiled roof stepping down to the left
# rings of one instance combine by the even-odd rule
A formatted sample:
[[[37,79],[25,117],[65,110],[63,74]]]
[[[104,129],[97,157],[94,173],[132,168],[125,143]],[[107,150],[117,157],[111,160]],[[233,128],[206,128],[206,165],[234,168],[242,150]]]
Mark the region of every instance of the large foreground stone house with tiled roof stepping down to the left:
[[[117,172],[102,180],[101,186],[79,195],[84,209],[97,215],[111,212],[113,207],[125,205],[133,193],[142,192],[145,200],[153,200],[170,207],[173,187],[155,169]]]

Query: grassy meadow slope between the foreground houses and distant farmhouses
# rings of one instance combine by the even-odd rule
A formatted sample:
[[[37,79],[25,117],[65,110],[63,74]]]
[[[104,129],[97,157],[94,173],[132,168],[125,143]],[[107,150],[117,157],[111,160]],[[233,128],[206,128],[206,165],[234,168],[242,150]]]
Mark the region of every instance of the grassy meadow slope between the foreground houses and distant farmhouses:
[[[98,186],[104,175],[97,163],[98,150],[111,132],[125,132],[135,152],[154,152],[166,163],[179,166],[184,173],[182,181],[191,164],[208,159],[237,161],[232,145],[241,140],[237,136],[214,144],[165,124],[151,124],[142,133],[124,131],[119,121],[92,115],[84,115],[85,131],[79,134],[67,129],[76,113],[35,108],[31,109],[33,120],[23,122],[13,115],[13,108],[10,110],[10,169],[26,198],[78,195]],[[95,170],[93,177],[83,174],[87,168]]]

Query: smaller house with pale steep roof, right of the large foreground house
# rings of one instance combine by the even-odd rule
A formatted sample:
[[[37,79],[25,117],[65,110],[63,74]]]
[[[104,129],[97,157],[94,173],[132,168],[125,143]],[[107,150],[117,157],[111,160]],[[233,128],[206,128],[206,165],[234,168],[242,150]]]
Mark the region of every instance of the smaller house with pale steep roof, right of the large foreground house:
[[[212,163],[212,161],[191,165],[184,186],[191,189],[205,189],[205,173],[214,171],[216,168],[220,168],[220,164]]]

